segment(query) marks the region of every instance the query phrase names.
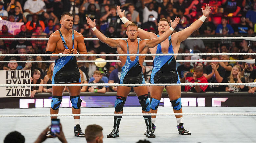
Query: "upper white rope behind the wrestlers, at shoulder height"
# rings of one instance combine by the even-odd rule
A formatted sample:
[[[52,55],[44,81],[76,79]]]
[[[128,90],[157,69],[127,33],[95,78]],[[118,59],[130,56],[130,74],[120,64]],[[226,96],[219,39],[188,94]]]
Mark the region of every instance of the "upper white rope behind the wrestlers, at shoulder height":
[[[48,40],[49,38],[0,38],[1,40]],[[127,40],[128,38],[112,38],[112,39],[122,39]],[[140,38],[137,38],[140,40]],[[189,37],[187,39],[203,39],[203,40],[221,40],[221,39],[244,39],[250,41],[256,41],[256,37]],[[84,40],[99,40],[98,38],[84,38]]]

